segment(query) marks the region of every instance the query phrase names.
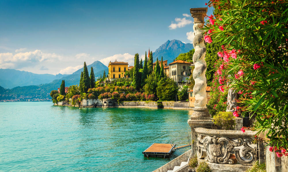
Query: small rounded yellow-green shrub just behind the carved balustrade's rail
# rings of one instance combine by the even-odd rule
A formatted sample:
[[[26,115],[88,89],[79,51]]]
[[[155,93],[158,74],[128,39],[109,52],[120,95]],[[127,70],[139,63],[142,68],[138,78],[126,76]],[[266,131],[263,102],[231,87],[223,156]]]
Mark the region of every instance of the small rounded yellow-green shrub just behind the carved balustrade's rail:
[[[233,116],[232,112],[218,112],[213,117],[214,124],[222,130],[233,130],[235,125],[234,118],[235,116]]]

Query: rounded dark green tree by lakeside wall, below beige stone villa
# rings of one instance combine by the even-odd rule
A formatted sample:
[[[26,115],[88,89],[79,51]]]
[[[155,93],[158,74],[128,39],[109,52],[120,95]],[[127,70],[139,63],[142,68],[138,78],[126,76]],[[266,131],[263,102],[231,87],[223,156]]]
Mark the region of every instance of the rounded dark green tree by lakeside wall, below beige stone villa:
[[[178,86],[171,78],[162,78],[158,82],[157,96],[160,100],[174,100],[178,91]]]

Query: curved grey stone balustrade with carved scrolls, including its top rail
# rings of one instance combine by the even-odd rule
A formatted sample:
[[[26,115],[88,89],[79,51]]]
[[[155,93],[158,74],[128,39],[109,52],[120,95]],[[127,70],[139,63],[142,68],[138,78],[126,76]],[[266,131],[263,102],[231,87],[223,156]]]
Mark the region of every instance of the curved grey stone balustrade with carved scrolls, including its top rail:
[[[259,163],[265,161],[263,142],[255,140],[257,132],[246,131],[243,133],[242,131],[206,128],[195,128],[194,132],[196,143],[194,151],[197,153],[198,160],[208,161],[208,164],[212,164],[212,168],[213,164],[229,166],[237,162],[237,165],[249,167],[255,161],[259,161]]]

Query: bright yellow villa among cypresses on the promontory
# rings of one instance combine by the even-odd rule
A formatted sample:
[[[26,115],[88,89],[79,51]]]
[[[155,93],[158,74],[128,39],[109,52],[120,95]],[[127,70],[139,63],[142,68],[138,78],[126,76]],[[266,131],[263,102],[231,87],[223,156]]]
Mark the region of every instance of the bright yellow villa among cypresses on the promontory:
[[[126,62],[118,62],[115,60],[115,62],[109,62],[108,65],[109,68],[109,80],[113,81],[114,79],[119,79],[125,76],[126,71],[128,71],[128,63]],[[122,74],[123,73],[123,74]]]

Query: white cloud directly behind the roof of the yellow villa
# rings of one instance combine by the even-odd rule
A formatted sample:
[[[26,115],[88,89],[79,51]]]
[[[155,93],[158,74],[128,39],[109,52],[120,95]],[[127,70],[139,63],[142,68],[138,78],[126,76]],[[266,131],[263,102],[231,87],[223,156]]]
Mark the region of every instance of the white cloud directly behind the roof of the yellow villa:
[[[128,66],[134,66],[134,56],[128,53],[125,54],[115,54],[114,56],[102,58],[99,60],[105,66],[108,66],[109,62],[114,62],[117,60],[118,62],[128,62]],[[140,59],[139,59],[140,60]]]

